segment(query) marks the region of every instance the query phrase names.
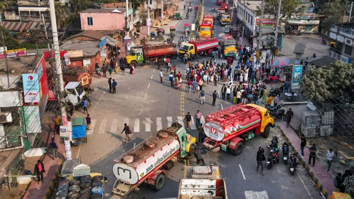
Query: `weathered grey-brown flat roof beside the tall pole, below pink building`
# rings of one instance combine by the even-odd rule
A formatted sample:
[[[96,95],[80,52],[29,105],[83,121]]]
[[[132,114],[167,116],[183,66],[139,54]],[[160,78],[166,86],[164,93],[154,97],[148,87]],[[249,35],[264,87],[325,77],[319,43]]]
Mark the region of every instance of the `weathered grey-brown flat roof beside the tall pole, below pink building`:
[[[95,56],[99,50],[98,41],[65,41],[60,49],[67,51],[82,50],[84,57]]]

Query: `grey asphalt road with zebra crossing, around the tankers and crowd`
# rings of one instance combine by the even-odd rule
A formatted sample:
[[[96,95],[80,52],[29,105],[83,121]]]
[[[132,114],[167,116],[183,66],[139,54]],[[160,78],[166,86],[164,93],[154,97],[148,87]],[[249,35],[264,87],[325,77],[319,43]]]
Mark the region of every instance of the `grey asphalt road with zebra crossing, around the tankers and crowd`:
[[[180,2],[181,9],[183,3],[189,3],[189,1]],[[193,5],[196,3],[196,0],[192,0]],[[206,0],[204,9],[207,12],[213,6],[217,7],[214,1]],[[191,14],[188,20],[178,23],[191,23],[192,20],[194,14]],[[176,37],[182,34],[182,30],[183,26],[177,27]],[[223,32],[223,28],[217,23],[216,34],[219,32]],[[197,59],[203,61],[208,57]],[[216,62],[224,62],[224,60]],[[180,59],[172,60],[172,64],[176,64],[177,70],[184,75],[185,65]],[[199,94],[188,94],[172,88],[168,82],[168,73],[163,70],[163,84],[160,83],[159,70],[153,66],[138,67],[134,75],[113,74],[113,78],[118,83],[117,94],[108,92],[107,78],[93,78],[95,91],[90,94],[92,105],[89,107],[92,130],[88,132],[88,143],[72,147],[72,154],[74,158],[80,157],[83,164],[91,166],[91,171],[101,172],[108,177],[108,198],[111,196],[115,182],[112,174],[115,158],[157,130],[167,128],[172,122],[181,123],[184,114],[188,111],[194,115],[199,109],[205,116],[232,105],[229,101],[218,98],[216,106],[211,106],[211,94],[214,90],[220,91],[221,84],[216,87],[207,85],[206,104],[202,105],[198,99]],[[84,116],[84,114],[76,111],[75,116]],[[124,123],[127,123],[133,131],[133,140],[125,145],[122,144],[124,134],[120,133]],[[197,135],[195,127],[191,130],[191,134]],[[291,176],[288,167],[284,164],[276,165],[271,170],[265,169],[265,176],[256,173],[256,151],[259,146],[266,148],[269,142],[269,139],[255,137],[246,143],[244,151],[239,156],[223,152],[203,153],[207,163],[220,166],[220,173],[226,179],[229,199],[285,199],[295,195],[296,198],[320,199],[320,195],[311,185],[311,179],[307,177],[303,168],[299,167],[295,176]],[[268,153],[265,155],[269,156]],[[142,184],[139,192],[133,192],[127,198],[177,197],[178,182],[182,176],[181,168],[182,164],[177,164],[167,171],[168,177],[161,191],[155,192],[148,185]]]

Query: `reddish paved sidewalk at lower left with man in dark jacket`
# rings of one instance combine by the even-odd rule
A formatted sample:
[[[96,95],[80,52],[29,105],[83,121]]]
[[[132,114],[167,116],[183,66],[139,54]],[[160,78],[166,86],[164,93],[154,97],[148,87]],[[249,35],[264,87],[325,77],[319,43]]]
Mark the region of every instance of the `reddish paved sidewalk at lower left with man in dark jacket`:
[[[49,136],[49,142],[52,137],[52,133]],[[46,147],[47,143],[47,138],[48,134],[46,132],[43,133],[43,135],[40,136],[42,145],[41,147]],[[24,195],[23,199],[48,199],[51,196],[51,191],[53,190],[54,184],[57,179],[57,174],[60,172],[60,167],[63,163],[64,160],[64,144],[59,143],[59,135],[55,135],[55,140],[58,145],[58,158],[53,160],[52,159],[52,153],[51,151],[48,151],[48,153],[44,156],[44,159],[42,160],[45,173],[43,174],[43,182],[38,184],[37,183],[37,178],[33,178],[32,182],[29,184],[29,187],[27,189],[26,194]],[[48,143],[49,145],[49,143]],[[39,158],[38,158],[39,159]],[[27,160],[26,160],[27,161]],[[34,164],[36,164],[37,160],[36,159],[31,159],[30,161],[34,161],[33,168],[31,168],[31,171],[33,172],[34,169]],[[30,163],[29,163],[30,164]]]

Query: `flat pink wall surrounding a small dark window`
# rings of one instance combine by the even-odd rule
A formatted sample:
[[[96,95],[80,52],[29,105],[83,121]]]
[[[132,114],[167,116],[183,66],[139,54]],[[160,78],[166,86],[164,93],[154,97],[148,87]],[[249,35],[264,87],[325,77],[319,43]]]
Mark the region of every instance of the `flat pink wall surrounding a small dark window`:
[[[92,17],[92,26],[88,25],[88,17]],[[123,13],[80,13],[83,31],[123,30],[125,18]]]

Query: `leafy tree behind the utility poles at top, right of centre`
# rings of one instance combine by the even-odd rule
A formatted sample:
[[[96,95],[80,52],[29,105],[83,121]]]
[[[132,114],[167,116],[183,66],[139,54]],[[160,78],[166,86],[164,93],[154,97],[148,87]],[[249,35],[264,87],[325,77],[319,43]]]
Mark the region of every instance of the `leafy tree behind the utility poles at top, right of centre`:
[[[264,13],[277,16],[279,0],[267,0],[265,2],[266,3],[264,4],[265,6]],[[300,4],[300,0],[282,0],[280,13],[282,13],[283,16],[286,18],[290,18],[296,12],[296,8],[299,4]],[[261,16],[260,6],[257,6],[256,14],[257,16]]]

